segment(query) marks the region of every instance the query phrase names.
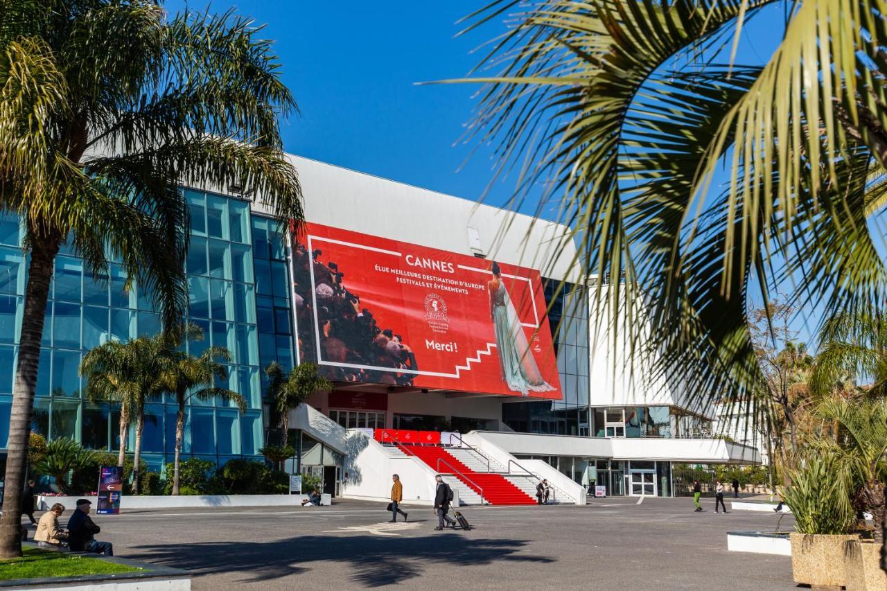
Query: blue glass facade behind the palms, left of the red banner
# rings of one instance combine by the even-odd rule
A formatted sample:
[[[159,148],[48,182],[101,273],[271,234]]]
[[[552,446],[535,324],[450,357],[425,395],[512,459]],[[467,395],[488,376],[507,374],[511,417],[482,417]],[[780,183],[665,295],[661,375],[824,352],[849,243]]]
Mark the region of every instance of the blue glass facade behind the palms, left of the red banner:
[[[190,402],[183,455],[220,464],[257,456],[263,445],[263,372],[273,360],[293,364],[284,228],[253,214],[247,201],[185,190],[191,211],[191,242],[185,262],[189,288],[186,319],[201,327],[202,341],[188,343],[199,355],[210,345],[232,353],[229,378],[218,386],[247,398],[240,414],[220,400]],[[0,445],[6,444],[26,279],[18,221],[0,217]],[[82,259],[63,248],[56,261],[46,306],[43,349],[32,429],[47,437],[73,437],[95,449],[118,449],[118,411],[82,398],[78,366],[84,351],[110,339],[126,341],[161,330],[149,294],[127,292],[122,266],[93,277]],[[143,457],[150,469],[172,461],[177,406],[157,399],[145,407]],[[130,449],[134,434],[130,429]]]

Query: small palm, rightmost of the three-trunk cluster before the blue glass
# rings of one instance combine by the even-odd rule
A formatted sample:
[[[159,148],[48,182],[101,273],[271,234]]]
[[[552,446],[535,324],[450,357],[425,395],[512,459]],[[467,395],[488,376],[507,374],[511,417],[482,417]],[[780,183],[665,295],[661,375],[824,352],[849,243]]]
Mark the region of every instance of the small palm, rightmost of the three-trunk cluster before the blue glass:
[[[173,461],[172,493],[178,494],[179,464],[182,456],[182,439],[184,437],[185,405],[191,399],[224,400],[238,406],[240,412],[246,410],[246,401],[237,392],[225,388],[216,388],[216,380],[227,380],[228,370],[222,362],[231,361],[231,352],[224,347],[208,347],[199,357],[179,350],[183,338],[200,340],[203,331],[200,327],[190,325],[185,328],[184,335],[178,337],[161,337],[165,343],[164,368],[161,372],[161,384],[164,390],[176,397],[178,413],[176,415],[176,455]]]

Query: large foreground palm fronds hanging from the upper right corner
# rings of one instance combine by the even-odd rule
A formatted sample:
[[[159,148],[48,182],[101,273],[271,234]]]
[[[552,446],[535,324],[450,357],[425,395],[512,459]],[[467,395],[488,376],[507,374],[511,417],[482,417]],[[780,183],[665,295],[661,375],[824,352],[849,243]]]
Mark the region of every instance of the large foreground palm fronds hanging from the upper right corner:
[[[771,4],[491,0],[468,28],[513,26],[483,73],[451,81],[486,85],[469,133],[519,169],[514,205],[540,186],[540,208],[561,201],[572,232],[553,251],[576,240],[608,286],[595,318],[627,317],[612,330],[691,402],[766,390],[751,295],[766,307],[790,284],[783,303],[824,318],[885,304],[867,224],[887,199],[883,4]],[[736,65],[756,18],[784,35],[765,64]]]

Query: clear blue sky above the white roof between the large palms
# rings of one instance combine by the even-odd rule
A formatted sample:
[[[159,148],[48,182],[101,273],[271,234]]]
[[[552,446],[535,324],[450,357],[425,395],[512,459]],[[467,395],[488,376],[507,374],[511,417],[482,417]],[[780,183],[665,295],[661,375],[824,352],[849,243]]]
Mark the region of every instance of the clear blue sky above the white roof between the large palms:
[[[287,152],[476,200],[491,179],[489,150],[463,162],[459,144],[476,84],[433,84],[467,75],[471,51],[501,29],[455,38],[479,2],[309,3],[279,0],[166,3],[170,12],[234,7],[276,41],[283,78],[302,109],[284,124]],[[513,182],[499,183],[503,203]]]

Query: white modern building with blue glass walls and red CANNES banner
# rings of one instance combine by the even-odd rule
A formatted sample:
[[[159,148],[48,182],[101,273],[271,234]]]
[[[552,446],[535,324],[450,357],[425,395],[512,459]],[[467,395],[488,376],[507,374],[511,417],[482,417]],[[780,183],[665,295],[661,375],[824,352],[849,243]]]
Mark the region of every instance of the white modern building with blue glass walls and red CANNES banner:
[[[713,437],[715,417],[688,405],[673,384],[650,383],[634,371],[624,379],[615,370],[618,355],[607,338],[593,334],[596,323],[589,319],[589,290],[599,287],[577,276],[568,228],[290,158],[310,222],[300,235],[279,228],[270,212],[240,195],[184,189],[192,216],[187,319],[206,334],[188,346],[231,350],[223,385],[247,398],[243,414],[193,401],[185,457],[220,464],[261,457],[270,427],[263,367],[307,360],[319,362],[335,389],[294,413],[291,440],[299,457],[290,465],[324,477],[326,492],[334,494],[384,496],[389,481],[361,456],[369,447],[381,453],[378,442],[370,439],[372,445],[358,450],[348,429],[470,433],[465,445],[488,470],[491,461],[508,469],[514,462],[547,467],[532,473],[560,475],[561,490],[574,500],[579,495],[567,493],[569,483],[604,486],[608,494],[671,495],[673,462],[760,461],[749,446]],[[25,288],[21,239],[19,221],[0,218],[4,445]],[[83,398],[77,366],[84,351],[108,339],[161,328],[139,286],[127,292],[125,281],[118,264],[109,277],[95,278],[73,252],[59,254],[35,432],[97,449],[118,447],[116,409]],[[502,297],[506,305],[496,308]],[[506,326],[523,327],[511,333],[518,343],[513,349],[523,355],[511,360],[501,332]],[[517,382],[503,381],[503,367]],[[154,400],[147,408],[143,453],[153,470],[172,459],[177,409],[171,403]],[[383,477],[370,477],[373,470]]]

